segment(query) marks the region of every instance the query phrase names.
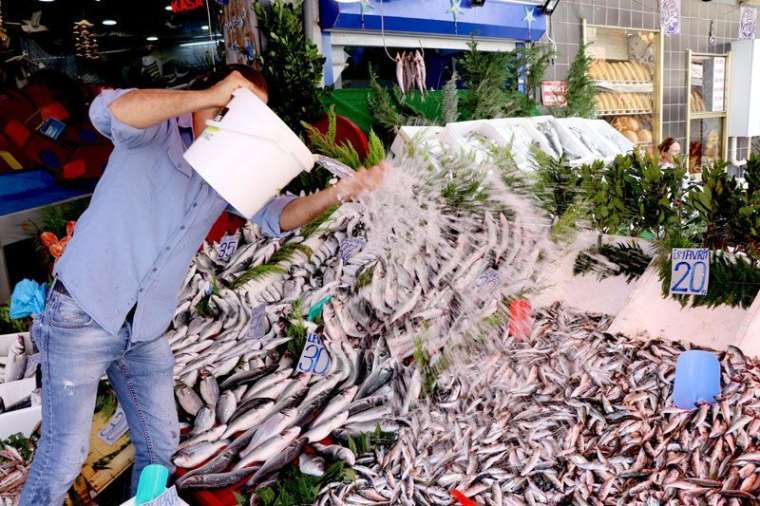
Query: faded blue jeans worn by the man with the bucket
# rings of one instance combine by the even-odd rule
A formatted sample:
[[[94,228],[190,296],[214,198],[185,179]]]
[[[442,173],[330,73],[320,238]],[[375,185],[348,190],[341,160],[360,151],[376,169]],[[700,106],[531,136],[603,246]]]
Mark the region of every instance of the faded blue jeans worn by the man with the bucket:
[[[59,506],[88,455],[98,383],[108,375],[135,446],[132,490],[148,464],[172,469],[179,441],[174,356],[165,338],[130,342],[131,324],[114,336],[71,297],[51,292],[32,337],[42,367],[42,435],[21,506]]]

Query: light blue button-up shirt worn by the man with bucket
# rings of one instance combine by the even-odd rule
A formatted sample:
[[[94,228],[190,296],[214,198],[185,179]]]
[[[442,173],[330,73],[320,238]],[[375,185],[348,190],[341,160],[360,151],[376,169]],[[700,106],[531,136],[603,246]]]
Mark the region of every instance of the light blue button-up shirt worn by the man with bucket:
[[[90,107],[114,150],[55,274],[111,334],[136,304],[132,339],[149,341],[166,330],[193,255],[228,206],[182,157],[191,116],[131,127],[109,109],[129,91],[106,90]],[[272,199],[252,221],[281,235],[280,215],[293,198]]]

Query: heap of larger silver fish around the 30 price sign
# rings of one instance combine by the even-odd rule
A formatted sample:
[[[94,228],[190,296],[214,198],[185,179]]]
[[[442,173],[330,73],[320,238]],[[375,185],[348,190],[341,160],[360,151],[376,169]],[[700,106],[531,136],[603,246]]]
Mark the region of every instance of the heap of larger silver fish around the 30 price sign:
[[[355,463],[325,438],[398,432],[422,390],[407,359],[441,360],[531,286],[548,228],[521,221],[531,204],[503,167],[471,163],[400,160],[382,188],[316,227],[272,239],[247,225],[228,261],[204,246],[167,332],[188,432],[180,489],[256,487],[296,458],[316,475]],[[315,341],[327,358],[309,355]],[[323,374],[295,370],[312,362]],[[301,457],[307,445],[316,457]]]

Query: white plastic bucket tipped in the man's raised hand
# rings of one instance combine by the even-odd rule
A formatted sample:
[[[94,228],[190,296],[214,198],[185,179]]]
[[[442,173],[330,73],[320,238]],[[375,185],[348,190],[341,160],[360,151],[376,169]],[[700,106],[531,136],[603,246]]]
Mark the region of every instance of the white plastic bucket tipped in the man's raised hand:
[[[219,121],[185,152],[185,160],[243,216],[256,214],[314,155],[301,139],[246,89],[234,93]]]

